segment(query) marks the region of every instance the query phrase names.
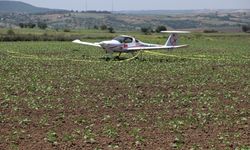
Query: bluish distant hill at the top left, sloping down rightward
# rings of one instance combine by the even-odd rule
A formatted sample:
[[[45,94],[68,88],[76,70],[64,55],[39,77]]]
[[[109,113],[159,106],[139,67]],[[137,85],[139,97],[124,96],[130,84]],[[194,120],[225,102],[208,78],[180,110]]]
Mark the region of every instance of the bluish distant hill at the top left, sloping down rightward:
[[[56,11],[65,10],[35,7],[19,1],[0,1],[0,13],[46,13]]]

